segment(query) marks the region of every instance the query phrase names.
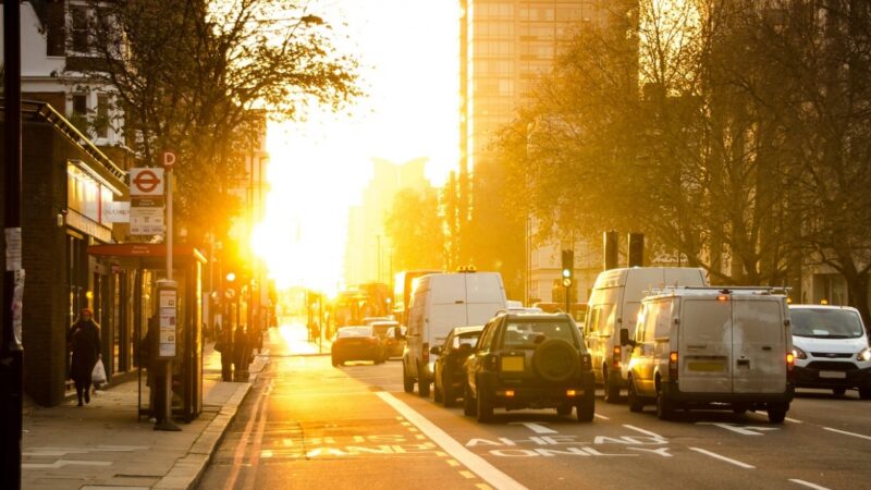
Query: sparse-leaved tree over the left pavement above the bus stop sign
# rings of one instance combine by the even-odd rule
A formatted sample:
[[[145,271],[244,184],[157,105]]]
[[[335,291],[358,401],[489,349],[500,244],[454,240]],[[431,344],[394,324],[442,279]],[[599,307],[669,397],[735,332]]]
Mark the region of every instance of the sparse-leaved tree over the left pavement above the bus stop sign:
[[[278,0],[89,2],[94,58],[66,70],[114,91],[136,157],[179,155],[179,218],[194,236],[226,226],[229,189],[261,142],[265,118],[336,109],[359,95],[355,61],[332,48],[329,24]]]

